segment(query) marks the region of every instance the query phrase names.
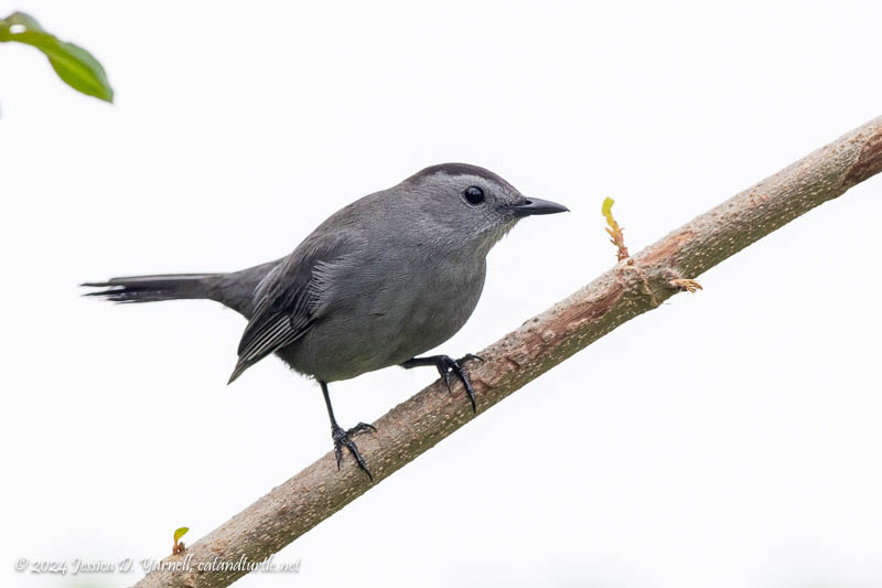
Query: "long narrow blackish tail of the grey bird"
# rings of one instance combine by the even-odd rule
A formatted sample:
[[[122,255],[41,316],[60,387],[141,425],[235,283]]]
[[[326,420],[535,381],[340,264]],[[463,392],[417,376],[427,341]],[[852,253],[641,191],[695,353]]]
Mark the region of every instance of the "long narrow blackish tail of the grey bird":
[[[83,284],[88,288],[106,288],[84,296],[97,296],[114,302],[157,302],[184,298],[213,298],[216,278],[223,274],[168,274],[132,276],[107,281]]]

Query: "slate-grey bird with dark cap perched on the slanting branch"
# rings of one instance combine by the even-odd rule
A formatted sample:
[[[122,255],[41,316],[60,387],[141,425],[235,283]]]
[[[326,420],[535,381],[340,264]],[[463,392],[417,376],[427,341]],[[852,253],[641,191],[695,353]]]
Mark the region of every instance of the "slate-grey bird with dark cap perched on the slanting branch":
[[[82,286],[115,302],[208,299],[248,323],[229,383],[276,354],[318,381],[331,419],[337,470],[343,448],[373,482],[353,440],[376,431],[337,424],[329,383],[400,365],[434,366],[450,388],[474,354],[419,356],[455,334],[484,288],[486,257],[521,218],[568,212],[528,199],[477,165],[441,163],[341,209],[282,258],[234,272],[111,278]]]

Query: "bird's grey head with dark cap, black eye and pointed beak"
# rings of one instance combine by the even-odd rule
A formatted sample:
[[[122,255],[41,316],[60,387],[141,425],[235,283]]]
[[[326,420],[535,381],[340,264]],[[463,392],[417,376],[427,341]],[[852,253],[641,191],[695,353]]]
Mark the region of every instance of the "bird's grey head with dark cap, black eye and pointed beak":
[[[568,211],[555,202],[527,197],[495,173],[466,163],[426,168],[400,186],[435,234],[484,255],[521,218]]]

